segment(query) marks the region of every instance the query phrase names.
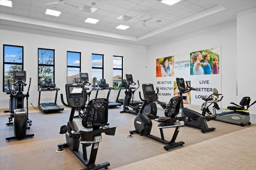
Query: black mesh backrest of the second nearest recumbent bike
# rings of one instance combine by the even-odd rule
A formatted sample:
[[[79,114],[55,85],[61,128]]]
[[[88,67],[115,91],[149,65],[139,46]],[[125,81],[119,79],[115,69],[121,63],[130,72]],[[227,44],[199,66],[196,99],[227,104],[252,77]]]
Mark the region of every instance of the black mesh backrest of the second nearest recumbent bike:
[[[172,99],[169,101],[165,111],[164,115],[166,117],[174,118],[176,115],[180,112],[180,103],[182,102],[182,99],[180,97],[172,97]]]

